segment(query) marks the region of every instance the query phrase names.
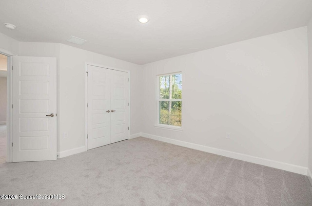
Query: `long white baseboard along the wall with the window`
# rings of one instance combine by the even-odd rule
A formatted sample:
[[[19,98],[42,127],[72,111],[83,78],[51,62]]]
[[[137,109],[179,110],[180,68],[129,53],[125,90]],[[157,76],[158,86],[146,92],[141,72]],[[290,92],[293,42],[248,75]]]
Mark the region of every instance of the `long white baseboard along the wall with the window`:
[[[141,133],[141,136],[149,138],[149,139],[154,139],[154,140],[158,140],[158,141],[167,142],[170,144],[186,147],[186,148],[191,148],[194,150],[205,151],[205,152],[214,153],[214,154],[218,154],[218,155],[225,156],[225,157],[230,157],[230,158],[234,158],[234,159],[238,159],[238,160],[242,160],[242,161],[246,161],[246,162],[255,163],[258,165],[264,165],[264,166],[268,166],[271,168],[283,169],[286,171],[307,175],[307,168],[302,167],[302,166],[292,165],[292,164],[288,164],[288,163],[284,163],[284,162],[278,162],[278,161],[274,161],[274,160],[270,160],[270,159],[264,159],[264,158],[255,157],[255,156],[246,155],[246,154],[237,153],[237,152],[228,151],[228,150],[211,148],[211,147],[207,147],[204,145],[197,145],[197,144],[190,143],[190,142],[184,142],[184,141],[180,141],[180,140],[156,136],[153,134],[148,134],[148,133],[143,133],[143,132]]]

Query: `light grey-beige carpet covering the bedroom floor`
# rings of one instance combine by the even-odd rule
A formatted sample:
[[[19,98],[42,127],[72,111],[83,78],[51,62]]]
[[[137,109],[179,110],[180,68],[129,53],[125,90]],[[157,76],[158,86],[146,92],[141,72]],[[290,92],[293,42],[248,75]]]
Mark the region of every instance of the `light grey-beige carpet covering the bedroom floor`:
[[[312,206],[308,178],[139,137],[57,161],[0,165],[0,205]]]

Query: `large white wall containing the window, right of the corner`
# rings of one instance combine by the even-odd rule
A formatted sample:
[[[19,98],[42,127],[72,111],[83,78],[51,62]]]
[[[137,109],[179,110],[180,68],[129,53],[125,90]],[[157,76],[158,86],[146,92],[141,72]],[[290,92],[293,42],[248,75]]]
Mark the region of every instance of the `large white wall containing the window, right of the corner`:
[[[307,167],[307,27],[143,67],[144,133]],[[183,131],[155,128],[156,75],[178,71]]]

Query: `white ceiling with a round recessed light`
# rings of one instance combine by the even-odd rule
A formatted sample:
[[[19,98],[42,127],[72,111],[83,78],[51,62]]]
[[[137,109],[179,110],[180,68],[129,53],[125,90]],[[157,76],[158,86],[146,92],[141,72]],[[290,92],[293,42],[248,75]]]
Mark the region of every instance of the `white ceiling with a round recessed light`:
[[[312,0],[1,0],[0,33],[146,64],[306,26],[311,16]]]

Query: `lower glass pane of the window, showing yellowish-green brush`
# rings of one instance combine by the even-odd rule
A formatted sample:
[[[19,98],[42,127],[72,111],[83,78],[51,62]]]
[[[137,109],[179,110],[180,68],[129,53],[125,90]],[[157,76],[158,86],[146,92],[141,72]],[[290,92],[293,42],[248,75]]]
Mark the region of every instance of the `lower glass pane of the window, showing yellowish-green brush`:
[[[181,127],[182,101],[159,101],[159,124]]]

